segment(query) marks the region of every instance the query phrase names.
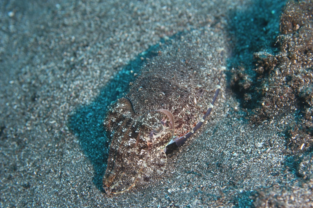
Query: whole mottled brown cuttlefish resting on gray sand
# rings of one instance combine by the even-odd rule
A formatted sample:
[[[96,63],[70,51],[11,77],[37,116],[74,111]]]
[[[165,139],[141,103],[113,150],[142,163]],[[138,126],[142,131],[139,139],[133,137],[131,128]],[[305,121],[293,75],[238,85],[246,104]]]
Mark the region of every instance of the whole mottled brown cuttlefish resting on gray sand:
[[[112,138],[103,177],[107,194],[123,193],[137,181],[162,174],[163,149],[203,121],[222,70],[210,54],[220,53],[223,60],[223,48],[209,37],[208,31],[195,30],[163,43],[125,97],[109,106],[103,122]]]

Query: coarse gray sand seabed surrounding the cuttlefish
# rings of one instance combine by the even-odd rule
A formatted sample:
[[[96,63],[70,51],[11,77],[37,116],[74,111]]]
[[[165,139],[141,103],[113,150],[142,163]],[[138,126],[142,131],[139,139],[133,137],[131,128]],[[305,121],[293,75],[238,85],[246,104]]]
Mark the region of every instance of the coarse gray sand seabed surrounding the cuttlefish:
[[[1,1],[1,207],[312,207],[312,153],[286,153],[296,110],[251,123],[230,87],[233,67],[275,44],[285,4]],[[167,152],[161,177],[106,195],[106,107],[140,70],[141,55],[192,30],[212,32],[229,57],[218,104]]]

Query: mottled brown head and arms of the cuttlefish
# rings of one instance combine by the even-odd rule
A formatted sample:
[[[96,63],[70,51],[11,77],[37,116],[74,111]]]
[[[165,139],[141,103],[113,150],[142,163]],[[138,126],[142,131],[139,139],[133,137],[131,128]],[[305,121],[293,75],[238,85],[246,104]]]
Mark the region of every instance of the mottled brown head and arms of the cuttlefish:
[[[127,98],[110,106],[103,122],[112,139],[103,177],[107,194],[123,193],[136,181],[149,181],[166,166],[163,149],[174,134],[174,119],[168,110],[137,115]]]

